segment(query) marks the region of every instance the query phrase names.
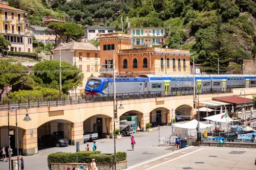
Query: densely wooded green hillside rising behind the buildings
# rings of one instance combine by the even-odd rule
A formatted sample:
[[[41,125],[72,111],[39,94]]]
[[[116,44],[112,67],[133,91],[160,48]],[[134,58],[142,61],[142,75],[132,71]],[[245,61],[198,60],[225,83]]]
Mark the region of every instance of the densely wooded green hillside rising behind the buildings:
[[[83,26],[119,29],[129,16],[131,27],[166,27],[165,45],[194,53],[207,72],[220,69],[241,73],[243,59],[256,52],[256,0],[9,0],[28,11],[29,22],[41,25],[42,16],[66,18]],[[124,25],[126,22],[124,19]],[[170,30],[169,30],[170,25]],[[126,31],[126,30],[125,30]]]

